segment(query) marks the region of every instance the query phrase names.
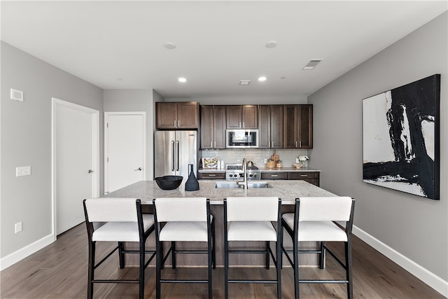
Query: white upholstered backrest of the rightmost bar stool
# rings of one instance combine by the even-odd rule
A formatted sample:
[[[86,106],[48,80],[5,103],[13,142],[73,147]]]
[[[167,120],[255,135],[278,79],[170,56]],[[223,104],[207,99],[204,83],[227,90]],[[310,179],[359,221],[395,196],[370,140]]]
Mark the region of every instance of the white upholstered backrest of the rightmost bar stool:
[[[300,197],[299,221],[349,221],[351,197]]]

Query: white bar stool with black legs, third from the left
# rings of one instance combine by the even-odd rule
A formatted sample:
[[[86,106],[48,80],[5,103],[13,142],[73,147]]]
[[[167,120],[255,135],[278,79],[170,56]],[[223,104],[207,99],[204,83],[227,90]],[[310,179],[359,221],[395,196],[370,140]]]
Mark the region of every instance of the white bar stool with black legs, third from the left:
[[[272,224],[276,221],[276,226]],[[230,241],[266,242],[265,251],[230,250]],[[270,242],[276,242],[276,257]],[[229,253],[264,253],[266,269],[269,254],[276,266],[275,280],[229,279]],[[228,298],[228,284],[276,284],[277,298],[281,298],[281,199],[278,197],[228,197],[224,200],[224,294]]]

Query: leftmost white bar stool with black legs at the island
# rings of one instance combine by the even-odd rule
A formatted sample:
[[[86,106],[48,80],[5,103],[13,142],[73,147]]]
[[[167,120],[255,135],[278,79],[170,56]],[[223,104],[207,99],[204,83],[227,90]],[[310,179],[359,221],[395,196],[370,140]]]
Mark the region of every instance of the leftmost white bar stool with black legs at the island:
[[[154,231],[152,214],[143,214],[141,202],[135,198],[92,198],[83,200],[85,224],[89,240],[87,298],[93,298],[95,283],[138,283],[139,298],[144,298],[145,269],[155,256],[145,244]],[[118,242],[118,246],[95,264],[97,242]],[[124,242],[139,242],[139,250],[125,250]],[[125,267],[124,253],[139,254],[139,279],[95,279],[94,270],[118,249],[120,269]],[[145,263],[145,253],[153,253]]]

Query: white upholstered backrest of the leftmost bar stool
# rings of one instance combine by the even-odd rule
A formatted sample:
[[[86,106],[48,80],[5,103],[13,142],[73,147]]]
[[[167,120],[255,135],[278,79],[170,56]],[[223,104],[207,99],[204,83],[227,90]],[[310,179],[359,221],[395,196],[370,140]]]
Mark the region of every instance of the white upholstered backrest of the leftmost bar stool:
[[[135,198],[91,198],[85,208],[89,222],[137,222]]]

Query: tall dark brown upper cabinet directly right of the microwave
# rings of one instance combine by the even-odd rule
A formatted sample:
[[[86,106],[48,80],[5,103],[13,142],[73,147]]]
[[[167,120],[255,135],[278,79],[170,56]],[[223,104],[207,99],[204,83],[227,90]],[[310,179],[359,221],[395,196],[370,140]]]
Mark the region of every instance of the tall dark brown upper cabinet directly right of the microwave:
[[[283,148],[283,105],[258,106],[259,148]]]

